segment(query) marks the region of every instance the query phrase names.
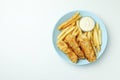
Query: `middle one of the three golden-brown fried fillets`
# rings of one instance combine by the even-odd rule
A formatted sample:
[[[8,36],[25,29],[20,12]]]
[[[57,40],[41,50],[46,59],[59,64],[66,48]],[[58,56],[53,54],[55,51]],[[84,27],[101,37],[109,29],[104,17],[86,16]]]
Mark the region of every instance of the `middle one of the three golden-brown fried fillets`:
[[[67,35],[65,38],[65,42],[68,43],[68,45],[72,48],[72,50],[75,52],[75,54],[80,58],[80,59],[84,59],[84,53],[83,51],[80,49],[76,38],[74,35]]]

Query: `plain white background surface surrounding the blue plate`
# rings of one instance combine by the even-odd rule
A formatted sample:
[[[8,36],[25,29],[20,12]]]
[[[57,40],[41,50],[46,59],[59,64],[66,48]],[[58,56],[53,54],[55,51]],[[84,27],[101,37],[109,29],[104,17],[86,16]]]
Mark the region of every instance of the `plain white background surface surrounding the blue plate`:
[[[0,80],[120,79],[119,0],[0,0]],[[104,55],[73,66],[52,44],[56,22],[73,10],[91,11],[108,31]]]

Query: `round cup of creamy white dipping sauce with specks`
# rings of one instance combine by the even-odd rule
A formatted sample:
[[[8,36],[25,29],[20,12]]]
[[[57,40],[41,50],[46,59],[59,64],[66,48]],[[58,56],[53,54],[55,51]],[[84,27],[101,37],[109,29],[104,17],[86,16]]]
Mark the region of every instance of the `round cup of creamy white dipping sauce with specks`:
[[[83,17],[80,20],[80,28],[83,31],[91,31],[95,27],[95,22],[91,17]]]

